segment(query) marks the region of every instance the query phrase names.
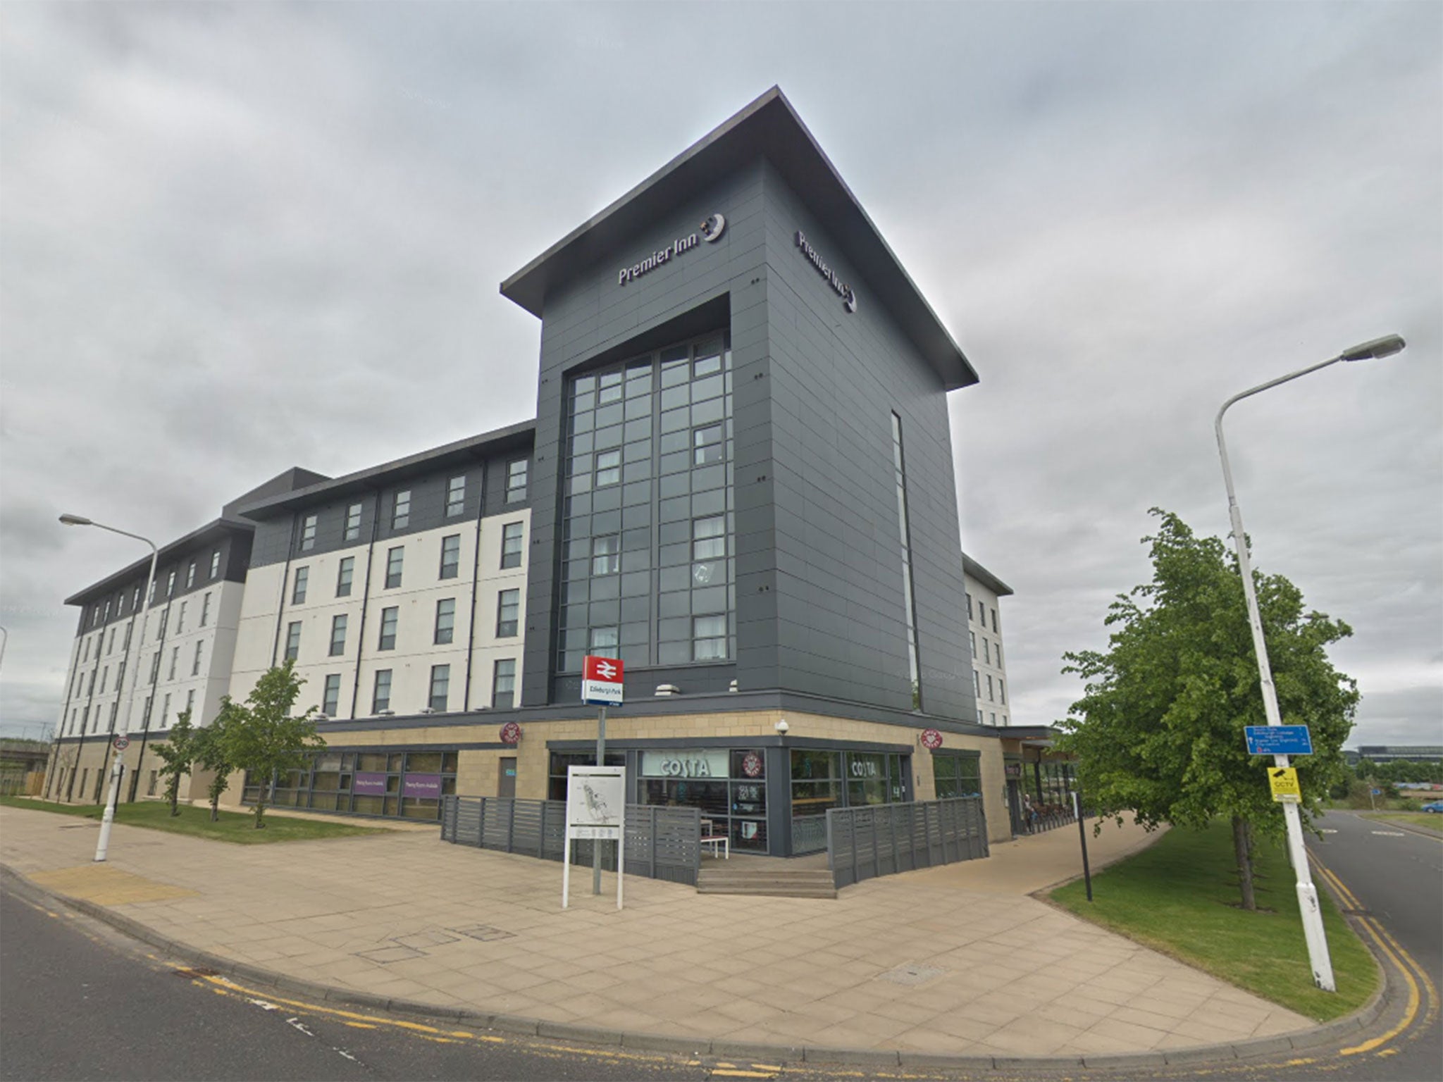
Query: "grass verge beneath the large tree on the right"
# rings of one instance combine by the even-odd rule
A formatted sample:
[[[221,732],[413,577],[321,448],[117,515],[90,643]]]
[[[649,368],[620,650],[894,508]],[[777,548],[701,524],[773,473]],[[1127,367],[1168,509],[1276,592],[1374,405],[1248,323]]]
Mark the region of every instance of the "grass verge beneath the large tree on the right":
[[[1052,892],[1071,913],[1136,939],[1255,995],[1319,1021],[1362,1007],[1378,987],[1378,967],[1319,886],[1336,993],[1313,985],[1297,912],[1293,870],[1281,845],[1261,841],[1254,877],[1258,906],[1238,907],[1232,832],[1175,827],[1153,845],[1092,877]]]

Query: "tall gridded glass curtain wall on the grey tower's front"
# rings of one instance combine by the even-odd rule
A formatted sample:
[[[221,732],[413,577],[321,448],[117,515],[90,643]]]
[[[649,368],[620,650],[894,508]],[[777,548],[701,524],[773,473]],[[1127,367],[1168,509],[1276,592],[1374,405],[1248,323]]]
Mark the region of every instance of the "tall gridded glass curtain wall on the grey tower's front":
[[[736,656],[732,452],[724,333],[571,379],[557,672]]]

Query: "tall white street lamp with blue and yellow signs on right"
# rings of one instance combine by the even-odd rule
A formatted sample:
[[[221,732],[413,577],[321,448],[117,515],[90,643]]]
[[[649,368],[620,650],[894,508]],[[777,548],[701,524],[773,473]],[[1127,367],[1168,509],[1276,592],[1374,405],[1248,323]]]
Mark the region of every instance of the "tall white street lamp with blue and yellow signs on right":
[[[1300,368],[1277,379],[1268,379],[1266,384],[1258,384],[1242,394],[1232,395],[1218,410],[1218,418],[1214,421],[1214,428],[1218,433],[1218,454],[1222,457],[1222,480],[1228,488],[1228,516],[1232,519],[1232,544],[1238,551],[1238,573],[1242,576],[1242,596],[1248,603],[1248,626],[1253,629],[1253,651],[1257,654],[1258,679],[1263,685],[1263,713],[1270,726],[1283,724],[1283,717],[1277,708],[1277,688],[1273,685],[1273,668],[1267,659],[1267,642],[1263,639],[1263,617],[1258,615],[1258,596],[1253,586],[1253,566],[1248,563],[1248,544],[1247,534],[1242,531],[1242,512],[1238,511],[1238,498],[1232,491],[1232,467],[1228,465],[1228,446],[1222,439],[1222,414],[1228,411],[1229,405],[1248,395],[1258,394],[1278,384],[1286,384],[1290,379],[1297,379],[1300,375],[1316,372],[1319,368],[1328,368],[1328,365],[1335,365],[1339,361],[1372,361],[1392,356],[1401,352],[1404,345],[1407,343],[1397,335],[1375,338],[1352,349],[1345,349],[1338,356],[1320,364]],[[1273,756],[1273,762],[1276,766],[1287,766],[1290,760],[1286,755],[1276,755]],[[1313,968],[1313,982],[1323,991],[1336,991],[1333,964],[1328,956],[1328,938],[1323,935],[1323,915],[1317,907],[1317,889],[1313,886],[1313,876],[1307,867],[1307,850],[1303,847],[1303,822],[1296,804],[1283,805],[1283,819],[1287,824],[1287,851],[1293,861],[1293,871],[1297,876],[1297,906],[1303,915],[1303,938],[1307,941],[1307,959]]]

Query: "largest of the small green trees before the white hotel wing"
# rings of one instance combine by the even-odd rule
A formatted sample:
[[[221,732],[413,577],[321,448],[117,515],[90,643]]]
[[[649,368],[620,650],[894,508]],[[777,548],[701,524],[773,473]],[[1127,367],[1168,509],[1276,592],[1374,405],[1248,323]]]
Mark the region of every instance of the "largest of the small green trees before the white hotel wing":
[[[245,697],[245,704],[227,700],[227,760],[234,770],[245,770],[260,783],[255,798],[255,828],[266,822],[266,795],[270,779],[287,770],[299,770],[309,762],[310,752],[323,749],[326,742],[316,736],[307,707],[300,717],[291,717],[291,707],[300,695],[300,679],[293,661],[286,661],[261,675]]]

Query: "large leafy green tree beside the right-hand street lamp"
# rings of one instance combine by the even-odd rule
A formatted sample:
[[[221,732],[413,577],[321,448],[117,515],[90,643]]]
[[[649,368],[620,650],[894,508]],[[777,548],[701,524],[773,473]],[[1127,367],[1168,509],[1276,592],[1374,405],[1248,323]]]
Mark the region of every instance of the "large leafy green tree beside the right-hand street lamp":
[[[1152,514],[1157,532],[1143,538],[1152,581],[1110,606],[1105,654],[1063,655],[1063,672],[1087,685],[1058,723],[1058,746],[1078,757],[1089,804],[1102,815],[1130,811],[1149,830],[1229,817],[1242,906],[1255,909],[1254,828],[1280,835],[1284,824],[1264,773],[1273,759],[1250,756],[1244,742],[1244,726],[1267,720],[1237,557],[1176,515]],[[1326,646],[1352,630],[1304,612],[1302,591],[1283,576],[1254,571],[1254,584],[1283,723],[1312,730],[1313,755],[1293,765],[1304,809],[1313,809],[1343,776],[1358,688],[1332,667]]]

